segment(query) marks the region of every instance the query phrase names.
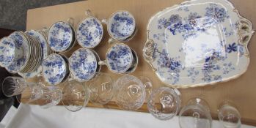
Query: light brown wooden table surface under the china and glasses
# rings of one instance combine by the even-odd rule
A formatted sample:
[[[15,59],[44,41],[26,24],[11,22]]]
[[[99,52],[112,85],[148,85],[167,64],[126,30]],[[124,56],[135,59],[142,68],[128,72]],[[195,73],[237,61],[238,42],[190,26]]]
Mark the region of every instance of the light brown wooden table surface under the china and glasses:
[[[255,0],[230,0],[235,8],[239,10],[241,15],[256,24],[256,11]],[[153,80],[153,87],[164,86],[160,80],[153,73],[150,66],[142,57],[142,48],[146,41],[146,26],[151,16],[156,12],[163,10],[165,7],[171,7],[175,4],[179,4],[182,0],[89,0],[80,1],[71,4],[56,5],[53,7],[43,7],[28,10],[27,12],[27,24],[26,29],[42,29],[43,27],[49,27],[52,23],[64,20],[67,18],[74,18],[75,24],[84,18],[84,11],[91,10],[93,15],[99,19],[108,18],[112,12],[117,10],[128,10],[136,18],[138,26],[138,32],[134,39],[127,44],[136,50],[139,56],[139,66],[132,75],[146,75]],[[94,48],[99,53],[100,59],[105,59],[107,48],[110,45],[107,43],[109,35],[104,26],[103,41],[97,48]],[[80,48],[76,45],[70,52],[65,53],[66,56],[70,56],[74,50]],[[226,83],[218,83],[213,86],[198,87],[192,89],[180,89],[182,93],[182,105],[193,97],[201,97],[205,99],[211,108],[213,118],[216,118],[217,108],[224,100],[233,102],[240,110],[242,121],[244,124],[252,124],[256,126],[256,37],[253,37],[250,44],[250,58],[249,69],[240,78],[231,80]],[[107,67],[102,67],[102,72],[110,73],[116,80],[120,75],[114,75],[109,72]],[[32,79],[33,80],[33,79]],[[25,98],[22,99],[26,100]],[[105,106],[95,106],[89,103],[89,106],[103,107],[103,108],[115,108],[118,109],[114,102],[110,102]],[[139,111],[147,112],[146,104],[142,106]]]

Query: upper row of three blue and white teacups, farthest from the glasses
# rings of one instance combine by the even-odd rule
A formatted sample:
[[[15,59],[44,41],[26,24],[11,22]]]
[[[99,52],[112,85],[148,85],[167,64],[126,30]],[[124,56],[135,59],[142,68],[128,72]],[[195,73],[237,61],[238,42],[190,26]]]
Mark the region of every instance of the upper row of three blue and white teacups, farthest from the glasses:
[[[135,18],[128,11],[114,12],[109,19],[102,20],[102,23],[107,26],[111,37],[109,42],[128,42],[136,34]],[[90,10],[86,11],[86,18],[81,20],[76,31],[73,18],[69,18],[67,22],[53,23],[48,29],[48,45],[56,52],[70,50],[76,41],[83,48],[95,48],[102,39],[103,26]]]

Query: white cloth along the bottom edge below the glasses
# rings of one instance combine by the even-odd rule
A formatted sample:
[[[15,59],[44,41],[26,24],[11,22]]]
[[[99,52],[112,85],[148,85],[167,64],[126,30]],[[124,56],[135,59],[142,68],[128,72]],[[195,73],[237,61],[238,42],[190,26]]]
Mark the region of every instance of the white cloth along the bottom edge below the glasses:
[[[70,112],[64,106],[43,109],[37,105],[23,105],[6,128],[178,128],[178,117],[159,121],[150,113],[102,108],[84,108]],[[242,126],[243,128],[252,128]],[[213,128],[221,128],[213,121]]]

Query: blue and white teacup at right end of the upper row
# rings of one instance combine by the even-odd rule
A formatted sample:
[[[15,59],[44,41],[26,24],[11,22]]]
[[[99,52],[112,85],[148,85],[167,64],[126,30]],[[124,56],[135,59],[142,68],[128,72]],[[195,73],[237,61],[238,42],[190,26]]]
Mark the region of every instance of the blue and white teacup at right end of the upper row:
[[[104,19],[102,22],[107,25],[111,37],[109,42],[128,42],[136,34],[135,18],[128,11],[114,12],[108,20]]]

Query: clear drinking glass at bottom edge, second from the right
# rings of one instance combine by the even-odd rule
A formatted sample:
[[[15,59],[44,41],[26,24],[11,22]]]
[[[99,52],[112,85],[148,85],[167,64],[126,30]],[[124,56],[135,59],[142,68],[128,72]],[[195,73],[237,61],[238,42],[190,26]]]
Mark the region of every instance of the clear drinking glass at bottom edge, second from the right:
[[[179,124],[181,128],[211,128],[212,118],[208,103],[200,98],[190,99],[180,110]]]

